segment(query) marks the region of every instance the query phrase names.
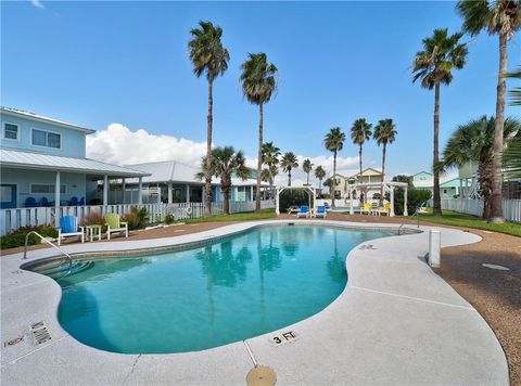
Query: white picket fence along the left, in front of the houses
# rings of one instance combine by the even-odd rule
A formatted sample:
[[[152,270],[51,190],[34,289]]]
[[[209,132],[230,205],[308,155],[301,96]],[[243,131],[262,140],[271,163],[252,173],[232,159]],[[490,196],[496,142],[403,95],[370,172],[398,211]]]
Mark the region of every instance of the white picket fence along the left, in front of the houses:
[[[91,213],[101,216],[107,213],[115,213],[120,216],[130,213],[132,206],[144,207],[150,215],[151,222],[164,220],[166,215],[173,215],[176,220],[203,217],[204,204],[181,203],[181,204],[117,204],[117,205],[89,205],[89,206],[62,206],[59,208],[59,217],[73,215],[78,217],[79,222]],[[260,202],[260,208],[274,208],[272,200]],[[230,213],[244,213],[255,210],[255,202],[230,202]],[[212,203],[212,215],[221,215],[223,203]],[[54,207],[36,208],[13,208],[0,210],[0,235],[12,232],[22,227],[35,227],[42,224],[54,224],[56,209]]]

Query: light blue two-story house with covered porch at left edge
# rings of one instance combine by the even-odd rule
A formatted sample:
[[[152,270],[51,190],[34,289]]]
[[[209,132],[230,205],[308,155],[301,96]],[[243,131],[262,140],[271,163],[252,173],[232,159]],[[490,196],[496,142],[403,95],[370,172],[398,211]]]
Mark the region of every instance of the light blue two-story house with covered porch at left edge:
[[[0,107],[1,209],[87,205],[110,180],[148,176],[86,158],[86,137],[94,130],[14,108]]]

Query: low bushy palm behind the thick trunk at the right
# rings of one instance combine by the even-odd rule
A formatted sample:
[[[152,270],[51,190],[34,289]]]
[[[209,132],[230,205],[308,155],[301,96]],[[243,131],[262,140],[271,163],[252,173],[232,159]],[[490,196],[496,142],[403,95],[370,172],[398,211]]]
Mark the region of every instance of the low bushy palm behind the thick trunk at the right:
[[[521,121],[507,118],[505,120],[504,140],[511,143],[514,136],[521,134]],[[459,126],[449,138],[444,151],[441,168],[444,170],[454,166],[462,166],[469,162],[478,163],[478,181],[483,196],[483,218],[492,215],[492,182],[494,176],[494,141],[495,119],[482,116],[479,119]]]

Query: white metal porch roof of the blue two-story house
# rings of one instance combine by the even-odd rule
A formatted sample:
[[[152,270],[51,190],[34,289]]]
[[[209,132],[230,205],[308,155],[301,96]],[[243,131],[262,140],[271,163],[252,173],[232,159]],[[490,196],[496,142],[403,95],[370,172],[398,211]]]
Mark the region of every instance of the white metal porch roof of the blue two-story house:
[[[23,168],[29,170],[51,170],[81,172],[92,176],[110,176],[112,178],[144,177],[147,172],[130,168],[101,163],[89,158],[61,157],[34,152],[0,149],[2,167]]]

